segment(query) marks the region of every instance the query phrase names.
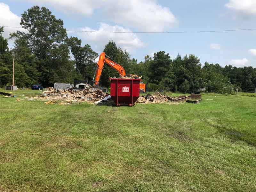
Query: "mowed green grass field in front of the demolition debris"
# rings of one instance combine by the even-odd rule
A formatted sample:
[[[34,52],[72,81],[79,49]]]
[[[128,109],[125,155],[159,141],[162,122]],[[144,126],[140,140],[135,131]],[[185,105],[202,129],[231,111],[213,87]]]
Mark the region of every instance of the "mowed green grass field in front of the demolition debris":
[[[256,98],[244,95],[132,108],[0,98],[0,192],[256,191]]]

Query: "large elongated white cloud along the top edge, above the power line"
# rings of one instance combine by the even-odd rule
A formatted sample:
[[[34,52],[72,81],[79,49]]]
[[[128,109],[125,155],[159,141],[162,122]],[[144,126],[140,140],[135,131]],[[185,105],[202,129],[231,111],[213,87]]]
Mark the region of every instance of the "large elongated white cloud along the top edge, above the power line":
[[[178,23],[169,7],[157,0],[27,0],[49,4],[59,11],[92,16],[98,10],[104,19],[141,31],[164,31]]]

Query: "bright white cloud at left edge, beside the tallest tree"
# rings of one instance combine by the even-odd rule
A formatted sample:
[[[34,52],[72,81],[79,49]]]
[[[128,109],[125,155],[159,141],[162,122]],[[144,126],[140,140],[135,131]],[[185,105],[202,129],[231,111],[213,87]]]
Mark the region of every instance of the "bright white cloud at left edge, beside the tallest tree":
[[[20,17],[14,14],[7,4],[0,3],[0,26],[20,27]],[[19,29],[22,30],[22,29]],[[17,28],[4,28],[3,36],[9,37],[9,34],[17,31]]]

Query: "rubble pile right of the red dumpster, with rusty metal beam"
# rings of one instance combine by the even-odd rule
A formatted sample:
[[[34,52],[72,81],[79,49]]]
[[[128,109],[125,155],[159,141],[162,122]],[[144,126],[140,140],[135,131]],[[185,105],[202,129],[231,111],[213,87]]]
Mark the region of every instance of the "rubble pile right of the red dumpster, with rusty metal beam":
[[[164,102],[182,102],[188,99],[201,99],[201,95],[192,94],[189,96],[180,95],[179,97],[170,97],[157,92],[155,95],[147,94],[146,96],[140,96],[137,103],[164,103]]]

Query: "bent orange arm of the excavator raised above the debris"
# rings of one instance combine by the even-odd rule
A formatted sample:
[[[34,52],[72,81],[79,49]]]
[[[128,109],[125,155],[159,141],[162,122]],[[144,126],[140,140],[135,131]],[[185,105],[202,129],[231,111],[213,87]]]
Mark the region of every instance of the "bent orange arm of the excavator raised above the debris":
[[[95,71],[94,85],[98,85],[99,84],[100,76],[101,76],[102,69],[103,69],[105,63],[107,63],[110,67],[112,67],[116,71],[118,71],[120,76],[125,76],[126,75],[125,70],[124,70],[124,68],[121,65],[119,65],[116,62],[114,62],[113,60],[111,60],[111,58],[108,57],[108,55],[106,55],[105,52],[102,52],[100,54],[100,58],[99,58],[99,61],[97,63],[97,68],[96,68],[96,71]],[[94,80],[94,78],[93,78],[93,80]]]

